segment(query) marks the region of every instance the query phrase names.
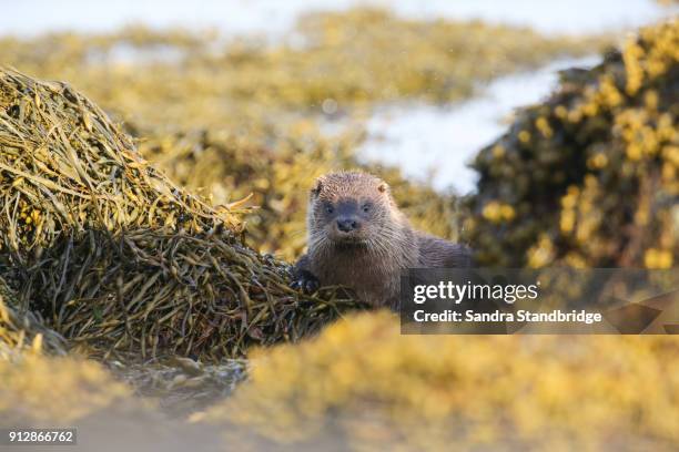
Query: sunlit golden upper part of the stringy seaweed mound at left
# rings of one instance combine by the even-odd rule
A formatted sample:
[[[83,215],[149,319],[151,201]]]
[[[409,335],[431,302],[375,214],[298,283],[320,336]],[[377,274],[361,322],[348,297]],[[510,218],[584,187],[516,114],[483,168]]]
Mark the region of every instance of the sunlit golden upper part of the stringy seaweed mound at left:
[[[236,229],[178,189],[97,105],[65,83],[0,71],[0,249],[27,264],[71,232]]]

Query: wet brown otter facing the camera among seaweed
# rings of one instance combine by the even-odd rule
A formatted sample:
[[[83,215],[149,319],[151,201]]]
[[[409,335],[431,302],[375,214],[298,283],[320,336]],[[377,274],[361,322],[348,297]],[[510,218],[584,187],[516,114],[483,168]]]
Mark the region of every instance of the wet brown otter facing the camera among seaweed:
[[[396,308],[403,269],[472,266],[468,247],[413,229],[388,185],[363,172],[318,177],[306,226],[308,250],[293,279],[306,292],[341,285],[373,307]]]

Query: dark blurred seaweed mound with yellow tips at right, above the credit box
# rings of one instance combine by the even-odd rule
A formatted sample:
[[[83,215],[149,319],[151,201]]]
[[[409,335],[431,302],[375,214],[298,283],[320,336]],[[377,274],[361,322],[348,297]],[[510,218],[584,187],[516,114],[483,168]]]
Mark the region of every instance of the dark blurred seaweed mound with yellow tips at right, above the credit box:
[[[679,22],[641,29],[484,148],[468,222],[483,265],[679,263]]]

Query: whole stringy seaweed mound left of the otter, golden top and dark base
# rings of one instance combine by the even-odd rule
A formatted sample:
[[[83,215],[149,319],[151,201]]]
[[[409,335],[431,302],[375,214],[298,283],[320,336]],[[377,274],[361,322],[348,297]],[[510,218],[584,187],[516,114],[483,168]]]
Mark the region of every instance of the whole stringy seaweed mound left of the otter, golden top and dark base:
[[[286,264],[243,245],[237,203],[174,186],[67,84],[0,71],[0,268],[71,345],[240,356],[355,306],[290,289]]]

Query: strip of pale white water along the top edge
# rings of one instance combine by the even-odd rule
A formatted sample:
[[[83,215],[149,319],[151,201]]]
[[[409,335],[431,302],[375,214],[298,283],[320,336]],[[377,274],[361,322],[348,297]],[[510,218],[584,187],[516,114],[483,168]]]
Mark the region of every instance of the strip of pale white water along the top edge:
[[[131,22],[151,27],[216,28],[225,33],[281,37],[303,13],[345,10],[356,6],[391,8],[417,19],[482,19],[531,27],[546,33],[598,33],[634,29],[656,21],[677,8],[655,0],[23,0],[6,2],[0,34],[45,31],[114,30]]]

